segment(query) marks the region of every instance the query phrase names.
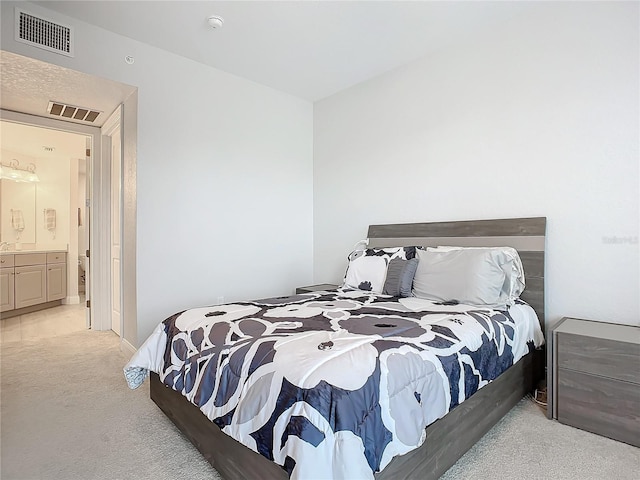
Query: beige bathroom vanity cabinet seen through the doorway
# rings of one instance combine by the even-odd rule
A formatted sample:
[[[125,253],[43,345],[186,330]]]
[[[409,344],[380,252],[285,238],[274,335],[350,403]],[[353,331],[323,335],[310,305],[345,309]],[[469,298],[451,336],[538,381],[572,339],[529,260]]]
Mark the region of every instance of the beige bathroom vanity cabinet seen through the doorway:
[[[62,303],[67,296],[67,252],[3,252],[0,312],[13,317]]]

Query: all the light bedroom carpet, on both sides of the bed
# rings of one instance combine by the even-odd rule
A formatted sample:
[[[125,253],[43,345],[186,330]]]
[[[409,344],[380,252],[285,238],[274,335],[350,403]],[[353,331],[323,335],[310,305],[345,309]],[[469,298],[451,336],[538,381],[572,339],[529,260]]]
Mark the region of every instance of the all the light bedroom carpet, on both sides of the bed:
[[[112,333],[2,346],[3,480],[220,477],[149,399],[129,390]],[[640,449],[545,418],[523,400],[443,477],[635,479]]]

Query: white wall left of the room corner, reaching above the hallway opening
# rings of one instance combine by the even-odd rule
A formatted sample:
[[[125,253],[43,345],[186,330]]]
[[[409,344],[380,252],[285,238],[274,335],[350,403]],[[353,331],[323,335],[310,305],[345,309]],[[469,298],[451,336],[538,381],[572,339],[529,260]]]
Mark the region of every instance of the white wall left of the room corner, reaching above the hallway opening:
[[[138,344],[178,310],[311,281],[309,102],[23,2],[75,27],[75,57],[19,44],[15,5],[3,50],[139,89]]]

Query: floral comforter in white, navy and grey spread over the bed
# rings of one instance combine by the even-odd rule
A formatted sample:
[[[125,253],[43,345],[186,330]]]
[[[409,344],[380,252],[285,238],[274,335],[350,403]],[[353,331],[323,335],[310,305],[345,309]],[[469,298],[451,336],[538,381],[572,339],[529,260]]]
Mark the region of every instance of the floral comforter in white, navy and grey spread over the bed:
[[[125,367],[149,371],[292,479],[366,479],[543,343],[535,312],[340,289],[167,318]]]

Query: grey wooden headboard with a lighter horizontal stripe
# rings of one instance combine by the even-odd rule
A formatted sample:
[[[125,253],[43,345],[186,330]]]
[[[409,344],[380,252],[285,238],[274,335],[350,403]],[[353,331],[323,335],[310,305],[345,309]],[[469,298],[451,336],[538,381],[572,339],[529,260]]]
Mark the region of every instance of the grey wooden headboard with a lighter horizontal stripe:
[[[371,248],[439,245],[515,248],[522,259],[526,282],[521,298],[536,311],[544,332],[546,226],[546,217],[371,225],[368,237]]]

